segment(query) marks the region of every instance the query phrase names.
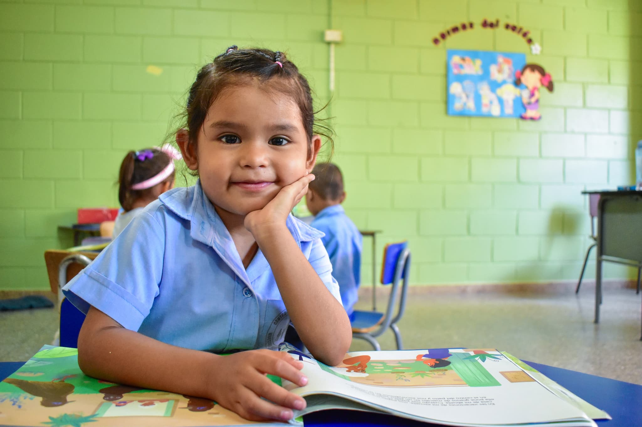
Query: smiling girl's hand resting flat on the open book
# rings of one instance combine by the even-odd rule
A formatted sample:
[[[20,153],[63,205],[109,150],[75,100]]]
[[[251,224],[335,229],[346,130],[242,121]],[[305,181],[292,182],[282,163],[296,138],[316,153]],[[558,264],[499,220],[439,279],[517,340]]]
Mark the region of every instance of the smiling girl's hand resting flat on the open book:
[[[300,373],[303,363],[287,353],[241,351],[221,356],[217,362],[207,378],[211,398],[241,417],[250,421],[288,421],[293,417],[292,409],[306,407],[303,398],[276,385],[266,376],[280,376],[300,387],[308,383],[308,378]]]

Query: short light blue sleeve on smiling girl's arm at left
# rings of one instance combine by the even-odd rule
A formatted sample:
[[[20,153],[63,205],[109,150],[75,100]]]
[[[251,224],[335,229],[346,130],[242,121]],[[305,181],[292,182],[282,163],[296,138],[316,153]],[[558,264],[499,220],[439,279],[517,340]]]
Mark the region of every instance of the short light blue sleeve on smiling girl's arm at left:
[[[164,243],[164,226],[144,211],[64,286],[65,297],[85,314],[93,306],[138,330],[159,294]]]

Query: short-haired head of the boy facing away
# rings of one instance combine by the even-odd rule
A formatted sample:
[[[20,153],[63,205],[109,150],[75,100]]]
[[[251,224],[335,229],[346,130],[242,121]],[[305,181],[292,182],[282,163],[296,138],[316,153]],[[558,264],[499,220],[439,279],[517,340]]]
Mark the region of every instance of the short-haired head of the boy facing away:
[[[316,215],[328,206],[338,205],[345,200],[343,175],[333,163],[317,163],[312,170],[315,180],[308,184],[306,205]]]

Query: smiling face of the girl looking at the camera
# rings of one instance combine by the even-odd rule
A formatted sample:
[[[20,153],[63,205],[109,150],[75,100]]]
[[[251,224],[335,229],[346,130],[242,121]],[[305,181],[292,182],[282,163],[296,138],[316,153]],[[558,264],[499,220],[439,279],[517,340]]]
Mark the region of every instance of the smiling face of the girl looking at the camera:
[[[184,149],[187,167],[198,170],[219,214],[245,216],[263,209],[315,165],[320,137],[313,137],[308,156],[299,107],[290,96],[263,87],[251,81],[223,89],[207,112],[196,147]]]

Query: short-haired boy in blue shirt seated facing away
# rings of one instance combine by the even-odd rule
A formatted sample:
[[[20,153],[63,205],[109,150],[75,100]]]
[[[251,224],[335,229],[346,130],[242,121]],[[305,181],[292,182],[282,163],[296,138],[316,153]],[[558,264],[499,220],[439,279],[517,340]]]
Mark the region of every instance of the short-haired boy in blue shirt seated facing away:
[[[321,238],[330,257],[332,275],[339,282],[343,307],[352,314],[361,284],[363,237],[343,211],[343,175],[332,163],[319,163],[312,171],[315,181],[308,186],[306,205],[315,215],[310,224],[325,233]]]

